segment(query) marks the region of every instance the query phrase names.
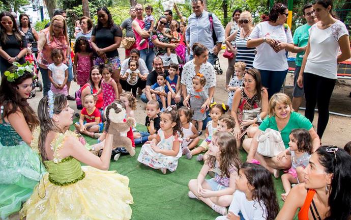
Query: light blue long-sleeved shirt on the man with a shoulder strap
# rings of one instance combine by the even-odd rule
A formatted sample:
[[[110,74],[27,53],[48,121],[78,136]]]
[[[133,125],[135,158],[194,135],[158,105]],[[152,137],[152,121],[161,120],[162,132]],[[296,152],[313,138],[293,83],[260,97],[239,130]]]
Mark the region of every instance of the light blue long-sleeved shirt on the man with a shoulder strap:
[[[213,13],[212,18],[217,42],[223,42],[225,40],[223,25]],[[195,13],[192,13],[188,18],[188,26],[185,32],[186,40],[190,41],[190,48],[194,43],[199,42],[206,46],[209,52],[212,53],[212,48],[215,46],[212,38],[212,30],[209,12],[203,11],[198,17],[196,17]]]

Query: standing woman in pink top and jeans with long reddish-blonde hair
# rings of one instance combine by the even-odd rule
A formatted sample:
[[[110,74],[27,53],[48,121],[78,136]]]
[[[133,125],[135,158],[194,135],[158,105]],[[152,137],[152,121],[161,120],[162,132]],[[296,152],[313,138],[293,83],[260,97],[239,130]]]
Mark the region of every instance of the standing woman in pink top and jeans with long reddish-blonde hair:
[[[47,68],[53,63],[50,54],[53,49],[60,49],[63,51],[63,63],[67,64],[67,56],[70,54],[70,47],[66,20],[62,15],[54,16],[51,19],[50,26],[39,33],[38,64],[43,78],[44,96],[46,96],[47,92],[50,90]]]

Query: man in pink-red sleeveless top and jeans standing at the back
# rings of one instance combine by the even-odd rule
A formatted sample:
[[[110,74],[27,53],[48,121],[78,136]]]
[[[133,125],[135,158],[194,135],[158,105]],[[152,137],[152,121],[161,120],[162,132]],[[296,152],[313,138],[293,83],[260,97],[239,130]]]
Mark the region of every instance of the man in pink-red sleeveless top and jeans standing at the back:
[[[153,59],[155,57],[155,52],[153,46],[149,45],[149,32],[143,30],[145,26],[143,20],[144,18],[142,16],[144,8],[141,4],[137,4],[134,7],[136,12],[136,18],[132,22],[132,27],[135,34],[136,49],[140,51],[140,58],[145,61],[149,72],[151,72],[153,68]],[[140,41],[143,38],[147,38],[145,39],[147,40],[147,42],[140,45]]]

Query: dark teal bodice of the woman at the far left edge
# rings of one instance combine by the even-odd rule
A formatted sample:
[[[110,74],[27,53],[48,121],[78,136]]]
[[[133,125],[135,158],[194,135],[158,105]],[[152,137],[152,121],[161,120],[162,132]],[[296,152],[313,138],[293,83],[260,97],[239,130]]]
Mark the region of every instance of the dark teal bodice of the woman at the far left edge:
[[[10,123],[5,122],[3,117],[4,106],[0,107],[3,123],[0,123],[0,142],[4,146],[14,146],[23,143],[22,137],[13,129]]]

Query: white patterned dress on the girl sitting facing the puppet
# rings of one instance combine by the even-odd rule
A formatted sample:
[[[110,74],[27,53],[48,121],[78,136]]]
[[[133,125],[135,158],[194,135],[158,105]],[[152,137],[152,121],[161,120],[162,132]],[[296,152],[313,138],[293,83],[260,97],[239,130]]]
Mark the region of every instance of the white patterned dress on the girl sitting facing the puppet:
[[[165,137],[162,129],[159,129],[157,133],[161,139],[161,141],[157,144],[160,149],[171,150],[173,147],[173,142],[182,142],[182,139],[178,134]],[[144,144],[141,147],[138,161],[154,169],[166,168],[173,172],[177,169],[178,160],[181,156],[181,149],[179,149],[177,156],[167,156],[161,153],[156,153],[151,148],[150,144]]]

